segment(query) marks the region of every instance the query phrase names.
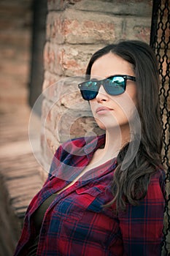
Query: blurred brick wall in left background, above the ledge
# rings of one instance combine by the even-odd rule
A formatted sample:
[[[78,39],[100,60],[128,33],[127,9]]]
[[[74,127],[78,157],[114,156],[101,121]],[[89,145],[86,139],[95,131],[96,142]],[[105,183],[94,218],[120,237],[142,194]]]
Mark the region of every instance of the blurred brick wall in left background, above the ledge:
[[[0,110],[27,102],[32,0],[0,2]]]

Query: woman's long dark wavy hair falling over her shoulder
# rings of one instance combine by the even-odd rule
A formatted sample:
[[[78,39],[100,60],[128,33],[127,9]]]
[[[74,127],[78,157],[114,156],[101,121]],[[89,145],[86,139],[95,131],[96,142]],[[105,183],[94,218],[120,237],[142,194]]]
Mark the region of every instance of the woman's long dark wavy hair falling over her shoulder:
[[[109,205],[116,202],[118,210],[125,209],[126,202],[136,205],[147,194],[150,176],[161,167],[162,127],[158,98],[158,61],[150,46],[137,40],[107,45],[93,54],[86,75],[90,75],[96,59],[110,52],[128,61],[134,68],[137,110],[142,128],[139,149],[125,170],[121,167],[129,144],[117,156],[117,167],[112,181],[114,199]]]

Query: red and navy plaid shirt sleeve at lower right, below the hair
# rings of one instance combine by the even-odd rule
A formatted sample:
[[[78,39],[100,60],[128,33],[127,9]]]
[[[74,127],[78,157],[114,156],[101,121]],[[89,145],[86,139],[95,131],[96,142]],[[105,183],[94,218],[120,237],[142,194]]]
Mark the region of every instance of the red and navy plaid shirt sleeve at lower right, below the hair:
[[[123,255],[161,255],[164,201],[163,176],[153,176],[146,197],[120,214]]]

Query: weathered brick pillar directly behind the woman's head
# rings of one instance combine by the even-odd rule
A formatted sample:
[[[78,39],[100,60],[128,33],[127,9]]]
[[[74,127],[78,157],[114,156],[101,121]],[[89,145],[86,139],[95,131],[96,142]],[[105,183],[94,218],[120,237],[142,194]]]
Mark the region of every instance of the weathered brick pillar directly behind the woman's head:
[[[69,86],[66,89],[66,84],[61,86],[56,82],[85,74],[91,54],[118,39],[142,39],[149,43],[152,1],[48,0],[47,8],[45,99],[42,104],[42,126],[45,129],[41,143],[44,165],[49,166],[55,149],[68,138],[66,132],[77,137],[85,134],[89,127],[93,132],[96,129],[90,112],[81,112],[81,116],[77,116],[85,104],[78,92],[71,94],[69,91],[68,95]],[[56,86],[51,86],[54,84]],[[75,98],[78,98],[78,105]],[[72,111],[69,112],[70,108]],[[88,105],[83,105],[83,108],[90,111]]]

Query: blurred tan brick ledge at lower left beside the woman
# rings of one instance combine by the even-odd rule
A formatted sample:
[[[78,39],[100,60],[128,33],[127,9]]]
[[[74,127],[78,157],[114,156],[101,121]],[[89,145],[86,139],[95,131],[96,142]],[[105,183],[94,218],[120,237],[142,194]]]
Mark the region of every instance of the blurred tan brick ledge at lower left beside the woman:
[[[45,180],[29,144],[29,116],[26,106],[0,116],[0,254],[5,256],[13,255],[28,204]]]

